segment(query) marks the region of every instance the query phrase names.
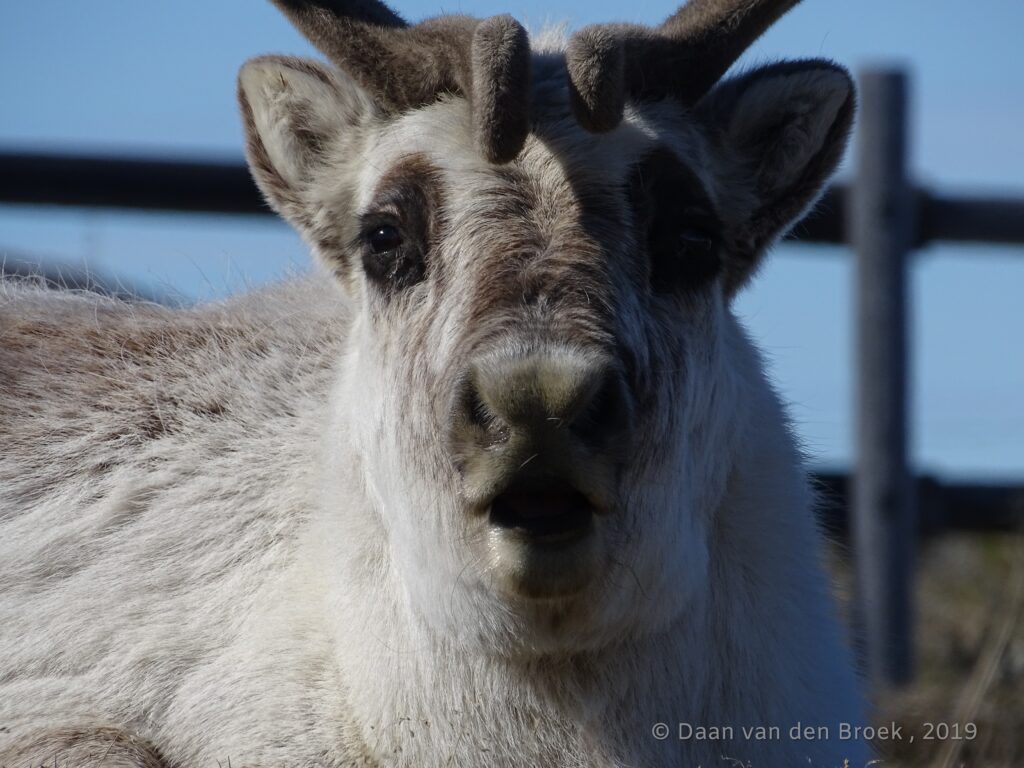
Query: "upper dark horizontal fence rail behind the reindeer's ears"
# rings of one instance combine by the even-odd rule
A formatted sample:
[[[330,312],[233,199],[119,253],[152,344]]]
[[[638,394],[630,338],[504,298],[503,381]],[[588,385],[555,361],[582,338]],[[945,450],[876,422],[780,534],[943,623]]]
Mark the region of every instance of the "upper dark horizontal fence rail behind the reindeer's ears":
[[[791,238],[844,244],[850,189],[829,188]],[[273,215],[245,163],[0,152],[0,203]],[[913,244],[1024,244],[1024,199],[914,193]]]

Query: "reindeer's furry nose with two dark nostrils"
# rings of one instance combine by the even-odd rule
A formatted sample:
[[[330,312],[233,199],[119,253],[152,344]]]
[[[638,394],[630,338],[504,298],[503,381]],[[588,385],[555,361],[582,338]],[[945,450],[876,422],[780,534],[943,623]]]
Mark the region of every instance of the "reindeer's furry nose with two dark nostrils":
[[[469,380],[467,415],[492,434],[540,443],[602,442],[626,419],[622,376],[600,354],[556,350],[486,357],[472,366]]]

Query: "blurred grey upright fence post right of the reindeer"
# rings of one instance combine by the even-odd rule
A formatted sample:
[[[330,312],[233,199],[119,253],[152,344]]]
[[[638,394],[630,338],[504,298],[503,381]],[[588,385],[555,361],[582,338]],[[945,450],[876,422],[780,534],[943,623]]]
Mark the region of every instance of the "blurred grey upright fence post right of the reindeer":
[[[915,515],[907,470],[907,269],[914,207],[906,172],[906,80],[860,75],[856,250],[857,613],[874,684],[910,679]]]

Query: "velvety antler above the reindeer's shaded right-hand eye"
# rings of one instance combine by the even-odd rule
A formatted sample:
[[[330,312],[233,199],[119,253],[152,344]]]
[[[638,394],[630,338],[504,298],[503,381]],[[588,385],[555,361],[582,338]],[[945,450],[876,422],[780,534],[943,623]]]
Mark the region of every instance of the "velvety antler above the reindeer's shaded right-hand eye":
[[[569,41],[572,110],[594,131],[614,128],[627,97],[693,103],[800,0],[689,0],[655,28],[588,27]],[[603,35],[602,35],[603,32]]]

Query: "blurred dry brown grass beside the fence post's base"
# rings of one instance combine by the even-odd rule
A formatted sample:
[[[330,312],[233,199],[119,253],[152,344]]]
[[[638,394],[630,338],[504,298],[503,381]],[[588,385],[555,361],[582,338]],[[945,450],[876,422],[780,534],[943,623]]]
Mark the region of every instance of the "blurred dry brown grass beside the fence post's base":
[[[915,676],[874,695],[878,743],[892,768],[1024,766],[1024,536],[947,535],[923,545],[915,584]],[[928,739],[928,723],[949,735]],[[941,727],[931,729],[943,735]],[[912,741],[910,736],[913,736]]]

